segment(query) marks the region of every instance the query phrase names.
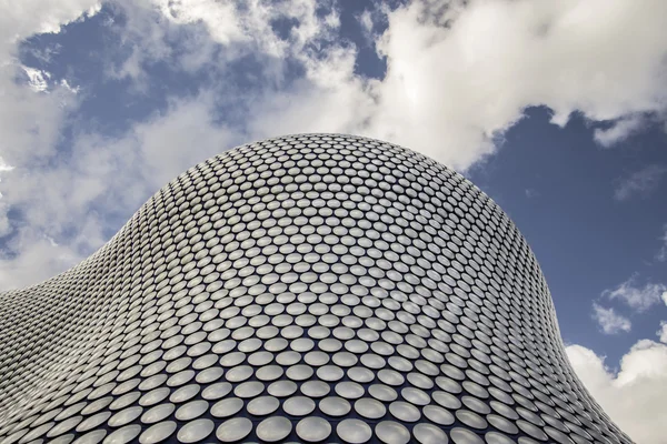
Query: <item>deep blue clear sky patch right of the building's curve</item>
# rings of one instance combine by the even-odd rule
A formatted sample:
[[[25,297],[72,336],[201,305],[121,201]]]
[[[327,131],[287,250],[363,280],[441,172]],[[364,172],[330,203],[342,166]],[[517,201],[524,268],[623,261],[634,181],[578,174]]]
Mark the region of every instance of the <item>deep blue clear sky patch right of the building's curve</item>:
[[[498,154],[468,176],[518,224],[537,255],[559,314],[566,343],[591,347],[617,365],[638,340],[654,339],[667,309],[636,313],[623,300],[601,293],[633,276],[633,286],[667,281],[660,261],[667,220],[667,181],[617,195],[634,174],[667,162],[667,135],[647,127],[614,149],[593,140],[579,118],[565,129],[548,111],[531,109],[507,134]],[[653,171],[649,170],[649,171]],[[653,183],[653,182],[651,182]],[[591,300],[631,322],[628,333],[605,334],[591,321]]]

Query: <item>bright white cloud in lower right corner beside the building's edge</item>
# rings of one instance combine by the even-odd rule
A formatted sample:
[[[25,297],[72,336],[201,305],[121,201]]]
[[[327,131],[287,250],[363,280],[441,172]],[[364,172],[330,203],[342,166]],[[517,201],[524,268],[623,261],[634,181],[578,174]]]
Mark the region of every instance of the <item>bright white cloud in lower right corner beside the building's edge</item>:
[[[635,442],[663,444],[667,436],[667,345],[643,340],[620,361],[615,373],[580,345],[566,347],[573,369],[593,397]]]

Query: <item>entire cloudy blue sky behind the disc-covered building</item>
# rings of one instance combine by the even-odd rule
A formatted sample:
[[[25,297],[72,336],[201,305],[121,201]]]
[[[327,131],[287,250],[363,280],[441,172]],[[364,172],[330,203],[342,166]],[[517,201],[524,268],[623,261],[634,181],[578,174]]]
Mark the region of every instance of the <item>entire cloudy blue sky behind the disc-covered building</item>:
[[[1,289],[84,259],[222,150],[370,135],[501,205],[585,384],[638,442],[665,436],[667,2],[20,4],[0,18]]]

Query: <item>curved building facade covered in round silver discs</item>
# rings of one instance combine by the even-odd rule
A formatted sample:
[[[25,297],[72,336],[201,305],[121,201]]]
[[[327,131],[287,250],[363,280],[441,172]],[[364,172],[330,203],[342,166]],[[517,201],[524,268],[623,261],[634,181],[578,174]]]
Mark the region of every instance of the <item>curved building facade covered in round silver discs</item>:
[[[225,152],[107,245],[0,294],[0,442],[629,443],[525,240],[389,143]]]

